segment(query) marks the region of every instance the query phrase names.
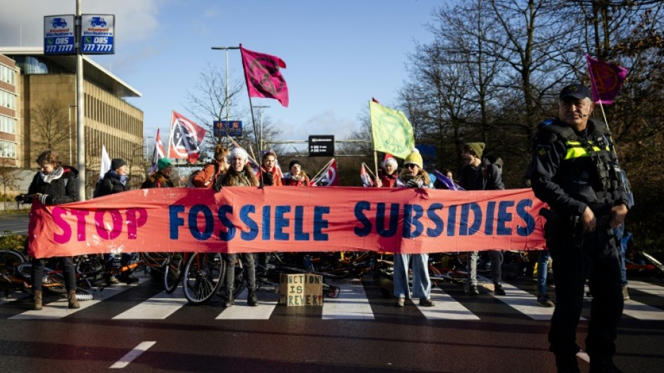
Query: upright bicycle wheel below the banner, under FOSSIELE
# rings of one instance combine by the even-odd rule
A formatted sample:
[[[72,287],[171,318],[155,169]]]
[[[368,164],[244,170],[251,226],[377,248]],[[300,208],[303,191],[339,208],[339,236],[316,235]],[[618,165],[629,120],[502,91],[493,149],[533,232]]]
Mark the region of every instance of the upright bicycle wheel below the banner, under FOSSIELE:
[[[224,276],[224,261],[218,252],[196,252],[184,267],[182,288],[191,304],[202,305],[217,294]]]

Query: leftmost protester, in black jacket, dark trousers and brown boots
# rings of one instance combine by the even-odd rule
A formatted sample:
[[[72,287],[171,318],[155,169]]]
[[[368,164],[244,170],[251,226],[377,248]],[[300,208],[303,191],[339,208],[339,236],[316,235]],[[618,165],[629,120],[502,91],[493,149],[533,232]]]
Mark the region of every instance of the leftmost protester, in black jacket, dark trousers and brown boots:
[[[41,171],[32,178],[28,187],[28,195],[18,195],[16,200],[32,203],[39,200],[42,204],[52,206],[78,201],[78,170],[72,166],[61,166],[61,161],[55,152],[45,150],[37,156],[37,164]],[[63,269],[64,286],[67,291],[69,308],[79,308],[76,300],[76,269],[72,257],[59,257],[60,267]],[[33,310],[42,310],[42,281],[44,279],[44,259],[32,258],[32,290],[34,291]]]

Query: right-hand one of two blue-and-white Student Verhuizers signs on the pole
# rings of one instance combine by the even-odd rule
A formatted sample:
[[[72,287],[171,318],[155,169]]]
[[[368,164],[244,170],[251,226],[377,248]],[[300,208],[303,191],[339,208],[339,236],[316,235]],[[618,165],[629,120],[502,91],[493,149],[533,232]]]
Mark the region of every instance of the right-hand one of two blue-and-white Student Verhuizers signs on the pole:
[[[81,16],[81,53],[115,53],[115,15],[83,14]]]

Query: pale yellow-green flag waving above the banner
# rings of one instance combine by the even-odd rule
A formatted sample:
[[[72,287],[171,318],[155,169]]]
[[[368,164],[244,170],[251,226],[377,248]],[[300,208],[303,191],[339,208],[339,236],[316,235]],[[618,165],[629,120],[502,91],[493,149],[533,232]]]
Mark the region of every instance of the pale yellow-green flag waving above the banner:
[[[405,158],[415,149],[413,126],[401,111],[369,102],[374,149]]]

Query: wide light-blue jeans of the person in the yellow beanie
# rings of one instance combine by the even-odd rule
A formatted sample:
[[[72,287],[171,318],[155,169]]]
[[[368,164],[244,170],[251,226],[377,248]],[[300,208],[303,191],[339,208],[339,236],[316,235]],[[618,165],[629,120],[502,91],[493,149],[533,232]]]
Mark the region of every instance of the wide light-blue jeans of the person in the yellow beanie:
[[[429,279],[429,254],[394,255],[394,295],[396,298],[410,298],[408,288],[408,262],[413,261],[413,298],[431,298]]]

